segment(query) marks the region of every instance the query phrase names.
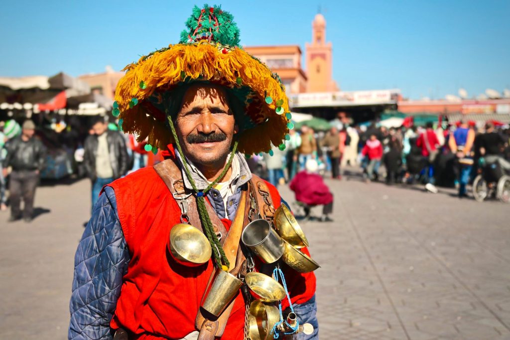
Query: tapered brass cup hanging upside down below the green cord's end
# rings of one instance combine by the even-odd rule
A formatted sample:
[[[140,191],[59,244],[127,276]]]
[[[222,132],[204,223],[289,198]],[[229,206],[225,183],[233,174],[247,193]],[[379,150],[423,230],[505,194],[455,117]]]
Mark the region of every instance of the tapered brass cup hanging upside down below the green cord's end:
[[[215,317],[219,317],[226,306],[234,299],[243,281],[225,272],[221,268],[216,269],[214,277],[207,286],[202,308],[210,312]]]

